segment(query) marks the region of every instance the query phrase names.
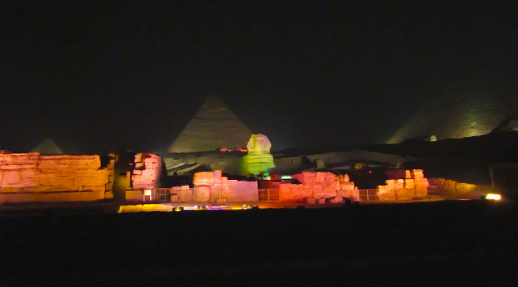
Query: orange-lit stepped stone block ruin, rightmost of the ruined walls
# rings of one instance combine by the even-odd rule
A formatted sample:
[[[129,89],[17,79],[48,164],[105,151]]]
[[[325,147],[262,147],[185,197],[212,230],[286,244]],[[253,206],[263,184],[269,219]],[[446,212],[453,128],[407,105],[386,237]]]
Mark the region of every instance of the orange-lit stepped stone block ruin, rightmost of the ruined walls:
[[[405,173],[405,179],[390,179],[385,181],[385,185],[378,185],[380,200],[410,200],[428,195],[429,182],[422,169],[406,170]]]

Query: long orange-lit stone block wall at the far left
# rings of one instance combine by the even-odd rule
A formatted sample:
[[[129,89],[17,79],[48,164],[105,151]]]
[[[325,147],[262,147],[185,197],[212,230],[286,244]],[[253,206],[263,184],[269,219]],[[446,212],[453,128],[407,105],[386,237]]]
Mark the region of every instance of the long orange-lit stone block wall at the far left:
[[[0,203],[113,198],[114,155],[102,168],[98,155],[0,154]]]

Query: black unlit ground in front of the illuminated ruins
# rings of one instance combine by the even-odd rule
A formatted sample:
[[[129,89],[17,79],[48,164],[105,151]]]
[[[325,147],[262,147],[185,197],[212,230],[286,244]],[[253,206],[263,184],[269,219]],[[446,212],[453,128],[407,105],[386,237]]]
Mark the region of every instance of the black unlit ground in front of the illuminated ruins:
[[[513,285],[515,204],[0,218],[2,285]]]

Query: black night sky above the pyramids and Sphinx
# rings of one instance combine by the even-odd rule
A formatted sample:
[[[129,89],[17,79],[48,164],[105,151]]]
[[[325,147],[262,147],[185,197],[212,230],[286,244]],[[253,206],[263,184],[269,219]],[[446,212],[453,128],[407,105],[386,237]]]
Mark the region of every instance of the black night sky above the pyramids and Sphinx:
[[[515,6],[135,3],[0,4],[0,148],[161,152],[210,94],[274,149],[383,142],[449,85],[518,95]]]

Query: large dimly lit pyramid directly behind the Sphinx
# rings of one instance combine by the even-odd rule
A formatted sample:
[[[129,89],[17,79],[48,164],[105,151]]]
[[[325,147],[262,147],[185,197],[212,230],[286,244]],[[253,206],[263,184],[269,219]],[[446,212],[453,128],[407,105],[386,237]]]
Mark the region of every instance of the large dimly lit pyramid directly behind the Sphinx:
[[[220,98],[210,96],[169,147],[168,152],[245,147],[252,134],[250,128]]]

